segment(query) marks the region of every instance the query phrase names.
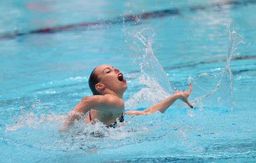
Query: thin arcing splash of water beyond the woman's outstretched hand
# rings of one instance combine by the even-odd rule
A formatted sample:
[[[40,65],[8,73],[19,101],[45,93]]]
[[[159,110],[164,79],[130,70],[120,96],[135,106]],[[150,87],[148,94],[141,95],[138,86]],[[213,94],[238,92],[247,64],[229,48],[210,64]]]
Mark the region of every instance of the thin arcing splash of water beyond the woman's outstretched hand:
[[[227,50],[226,65],[223,70],[217,75],[211,75],[202,73],[196,78],[189,78],[189,81],[193,85],[193,89],[196,90],[192,94],[193,104],[199,106],[203,110],[204,106],[218,106],[222,108],[233,110],[233,75],[230,69],[230,60],[233,53],[236,51],[237,46],[243,41],[243,36],[229,29],[229,46]]]

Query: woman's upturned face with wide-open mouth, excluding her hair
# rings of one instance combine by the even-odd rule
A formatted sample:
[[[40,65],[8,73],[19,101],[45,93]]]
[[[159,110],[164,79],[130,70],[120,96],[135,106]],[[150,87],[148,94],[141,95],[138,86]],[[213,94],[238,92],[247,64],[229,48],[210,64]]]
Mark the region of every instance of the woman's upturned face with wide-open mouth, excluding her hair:
[[[116,93],[124,93],[127,89],[126,80],[118,68],[114,68],[111,65],[99,65],[95,72],[98,74],[98,78],[100,78],[99,84],[104,85],[106,88]]]

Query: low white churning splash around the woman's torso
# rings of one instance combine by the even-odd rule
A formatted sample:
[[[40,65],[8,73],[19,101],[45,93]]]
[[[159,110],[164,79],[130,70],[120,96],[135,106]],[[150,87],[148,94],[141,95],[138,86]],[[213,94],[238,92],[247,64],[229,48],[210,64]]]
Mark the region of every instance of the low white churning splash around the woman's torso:
[[[58,132],[66,117],[66,114],[36,115],[35,110],[23,110],[20,116],[13,117],[12,124],[6,126],[4,138],[15,146],[26,145],[30,148],[54,151],[84,150],[90,153],[119,148],[120,144],[125,146],[158,139],[167,131],[160,130],[155,134],[154,130],[161,129],[162,123],[154,122],[154,119],[161,117],[170,123],[167,120],[170,118],[162,117],[161,113],[142,118],[126,116],[126,121],[117,128],[106,128],[101,122],[84,124],[84,119],[81,118],[74,121],[68,132]],[[155,127],[152,127],[153,124]],[[17,135],[26,137],[17,137]]]

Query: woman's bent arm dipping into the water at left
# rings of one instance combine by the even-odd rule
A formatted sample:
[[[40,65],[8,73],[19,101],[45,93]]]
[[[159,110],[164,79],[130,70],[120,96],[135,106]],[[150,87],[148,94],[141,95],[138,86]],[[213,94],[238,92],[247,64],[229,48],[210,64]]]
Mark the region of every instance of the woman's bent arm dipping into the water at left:
[[[108,111],[117,105],[120,105],[120,100],[113,99],[113,97],[109,96],[94,95],[83,97],[80,102],[74,106],[73,110],[68,113],[59,131],[68,130],[75,119],[80,119],[81,116],[90,111],[90,109]]]

